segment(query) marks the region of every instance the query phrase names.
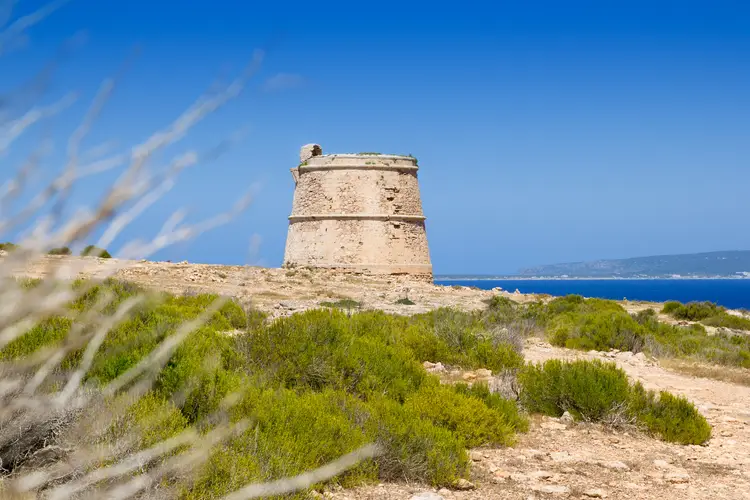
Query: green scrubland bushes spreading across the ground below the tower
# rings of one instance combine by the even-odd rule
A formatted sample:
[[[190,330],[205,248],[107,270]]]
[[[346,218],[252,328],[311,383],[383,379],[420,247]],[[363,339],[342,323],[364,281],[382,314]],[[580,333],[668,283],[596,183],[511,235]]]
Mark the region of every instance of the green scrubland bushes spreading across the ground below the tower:
[[[107,306],[112,314],[141,292],[117,281],[88,290],[66,314],[45,318],[6,345],[0,363],[22,362],[66,342],[77,316],[102,294],[115,295]],[[87,371],[87,383],[95,388],[115,380],[217,298],[152,294],[109,331]],[[153,374],[148,392],[107,403],[125,404],[127,411],[107,424],[107,432],[92,436],[90,444],[106,445],[134,432],[131,446],[144,449],[187,429],[206,433],[220,419],[217,415],[224,415],[235,422],[247,419],[249,427],[213,448],[197,474],[166,478],[164,486],[178,496],[219,498],[252,481],[319,467],[366,443],[377,443],[380,454],[335,482],[450,485],[468,474],[467,448],[512,445],[518,433],[528,430],[528,413],[560,416],[568,411],[578,420],[637,425],[684,444],[710,437],[710,427],[692,404],[631,385],[614,364],[526,365],[521,354],[525,336],[547,331],[555,344],[573,348],[747,362],[747,345],[731,338],[662,325],[651,313],[632,317],[613,302],[575,296],[528,306],[496,298],[481,312],[439,309],[411,317],[352,312],[350,307],[335,303],[267,322],[261,313],[225,303]],[[75,370],[82,356],[82,347],[70,351],[58,371]],[[517,397],[506,399],[479,383],[441,384],[423,368],[427,360],[513,377]],[[49,383],[56,383],[54,377]],[[229,400],[233,404],[227,406]],[[40,435],[40,442],[30,446],[52,437]],[[54,438],[64,441],[65,434]],[[6,472],[12,475],[21,467],[28,451],[11,456],[0,450]]]

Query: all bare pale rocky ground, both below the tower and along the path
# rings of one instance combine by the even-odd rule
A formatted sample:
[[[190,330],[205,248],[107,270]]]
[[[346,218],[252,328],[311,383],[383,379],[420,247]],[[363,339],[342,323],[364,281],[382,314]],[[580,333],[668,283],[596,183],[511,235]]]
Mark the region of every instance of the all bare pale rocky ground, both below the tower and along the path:
[[[98,276],[113,262],[95,258],[45,257],[18,275],[44,276],[70,269],[61,277]],[[218,266],[189,263],[129,262],[115,276],[147,287],[177,293],[230,295],[272,317],[317,307],[323,301],[352,299],[363,308],[398,314],[442,306],[485,307],[502,294],[524,302],[540,297],[467,287],[442,287],[402,278],[366,279],[305,269]],[[409,298],[414,305],[399,305]],[[659,304],[621,302],[630,312]],[[673,322],[663,317],[664,321]],[[646,388],[664,389],[692,400],[713,426],[706,446],[663,443],[635,431],[613,431],[600,425],[538,418],[516,446],[473,450],[471,483],[465,490],[434,490],[424,485],[382,484],[326,492],[335,499],[738,499],[750,498],[750,387],[681,375],[632,353],[574,352],[531,339],[525,347],[531,361],[552,358],[599,358],[615,361]],[[487,378],[487,372],[453,374]]]

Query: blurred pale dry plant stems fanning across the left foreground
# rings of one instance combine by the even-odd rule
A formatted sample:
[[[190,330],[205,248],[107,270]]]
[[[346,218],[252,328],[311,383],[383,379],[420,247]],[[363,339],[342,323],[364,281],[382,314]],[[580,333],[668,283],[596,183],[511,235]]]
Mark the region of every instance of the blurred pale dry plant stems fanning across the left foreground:
[[[39,11],[8,25],[4,31],[0,32],[0,55],[17,38],[24,35],[27,28],[44,19],[64,3],[65,0],[53,1]],[[0,22],[0,28],[2,24]],[[84,160],[83,140],[111,95],[116,81],[116,79],[106,80],[83,121],[68,141],[67,159],[62,172],[40,192],[32,196],[30,203],[17,213],[11,213],[13,203],[27,188],[28,177],[36,162],[33,158],[36,158],[39,151],[31,155],[32,160],[24,164],[17,177],[6,183],[0,192],[0,208],[2,208],[0,233],[8,233],[23,225],[31,224],[30,231],[19,242],[21,247],[0,259],[0,280],[8,283],[7,287],[0,290],[0,348],[28,332],[40,320],[53,315],[70,314],[68,304],[71,301],[91,291],[98,285],[98,280],[113,276],[129,262],[122,260],[107,262],[102,266],[103,269],[97,274],[96,279],[79,284],[75,289],[72,288],[69,279],[71,276],[80,274],[85,267],[85,259],[49,259],[50,266],[55,264],[54,268],[50,268],[49,277],[31,289],[26,289],[20,283],[16,283],[12,279],[14,273],[41,258],[50,248],[82,243],[99,229],[103,229],[103,232],[96,246],[105,248],[112,244],[125,227],[173,187],[177,177],[185,168],[207,159],[199,157],[195,152],[187,151],[177,155],[163,172],[155,175],[147,168],[154,155],[180,141],[197,123],[235,98],[255,73],[261,60],[262,54],[257,53],[252,63],[238,78],[218,91],[212,91],[210,95],[199,99],[170,125],[152,134],[130,151]],[[20,117],[7,122],[0,121],[0,154],[16,144],[32,126],[61,112],[72,102],[72,99],[72,96],[66,96],[50,106],[29,106],[20,114]],[[222,147],[220,145],[205,156],[211,157],[220,153]],[[96,155],[99,154],[101,151],[96,151]],[[90,163],[82,164],[84,161]],[[63,208],[77,182],[123,165],[125,166],[124,172],[117,182],[104,193],[99,203],[90,211],[76,213],[67,221],[61,220]],[[118,253],[126,259],[148,257],[169,245],[226,223],[236,213],[244,210],[247,203],[249,199],[243,199],[228,212],[193,225],[183,225],[182,212],[176,212],[168,218],[151,241],[130,242],[123,247],[122,252]],[[45,207],[50,204],[52,210],[45,212]],[[226,301],[226,298],[214,300],[197,318],[180,325],[174,334],[162,341],[149,355],[101,390],[84,390],[82,383],[93,366],[95,355],[106,335],[120,322],[127,320],[133,309],[144,300],[143,297],[127,299],[113,314],[105,315],[103,312],[107,306],[111,305],[113,299],[111,294],[105,293],[93,307],[77,314],[67,337],[57,347],[41,349],[27,359],[0,366],[2,369],[0,400],[3,403],[2,410],[0,410],[0,423],[4,427],[13,426],[18,422],[19,425],[27,426],[39,424],[43,432],[46,432],[46,429],[57,431],[56,427],[49,425],[50,419],[57,418],[55,412],[61,412],[60,414],[65,418],[76,418],[80,415],[93,417],[95,415],[92,412],[97,412],[97,404],[103,408],[101,404],[103,401],[111,402],[110,398],[122,395],[124,392],[123,401],[115,402],[114,407],[107,410],[111,412],[113,418],[122,416],[127,409],[127,404],[124,403],[135,402],[138,397],[148,391],[155,377],[181,342],[191,332],[205,324]],[[55,372],[65,356],[72,350],[82,348],[85,348],[82,359],[77,369],[72,374],[68,374],[66,380],[63,381],[63,389],[51,394],[40,391],[40,387],[50,374]],[[236,400],[236,395],[227,397],[221,404],[221,411],[225,412]],[[96,414],[101,415],[107,412],[101,411]],[[18,418],[19,415],[20,418]],[[82,420],[84,419],[77,419],[77,421]],[[97,425],[102,426],[101,432],[106,432],[106,422]],[[51,467],[42,469],[32,469],[31,472],[14,481],[14,486],[21,492],[31,492],[49,486],[44,494],[51,499],[70,498],[73,495],[88,495],[90,498],[101,498],[102,495],[107,498],[131,498],[152,487],[158,479],[168,474],[192,475],[195,468],[208,459],[212,447],[232,433],[243,432],[247,426],[245,421],[235,425],[222,424],[204,436],[198,435],[195,430],[191,429],[157,443],[147,450],[135,453],[127,452],[129,445],[125,448],[118,447],[123,444],[120,442],[112,444],[109,449],[96,447],[79,449],[70,454],[64,462],[57,462]],[[13,439],[12,433],[3,434],[0,436],[0,441],[6,438]],[[83,442],[79,439],[73,443],[80,445]],[[4,444],[0,442],[0,445]],[[26,442],[23,445],[26,446]],[[187,449],[164,460],[165,455],[183,447]],[[25,451],[27,449],[29,448],[24,448],[21,452],[27,453]],[[33,448],[30,450],[34,452]],[[226,499],[257,498],[304,489],[312,484],[328,480],[355,466],[361,460],[376,456],[377,453],[378,448],[369,445],[317,470],[271,483],[249,485],[228,495]],[[29,455],[27,453],[24,456]],[[108,467],[98,465],[102,460],[109,461],[115,457],[118,458],[115,465]],[[138,471],[142,473],[136,477],[130,477]],[[118,484],[112,486],[113,482]]]

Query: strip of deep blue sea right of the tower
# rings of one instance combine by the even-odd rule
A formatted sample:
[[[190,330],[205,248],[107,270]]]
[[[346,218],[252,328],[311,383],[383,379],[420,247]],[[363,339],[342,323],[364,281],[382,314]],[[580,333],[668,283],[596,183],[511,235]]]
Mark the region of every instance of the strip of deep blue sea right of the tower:
[[[690,302],[708,300],[729,309],[750,309],[750,279],[680,280],[435,280],[438,285],[501,287],[513,292],[577,294],[615,300]]]

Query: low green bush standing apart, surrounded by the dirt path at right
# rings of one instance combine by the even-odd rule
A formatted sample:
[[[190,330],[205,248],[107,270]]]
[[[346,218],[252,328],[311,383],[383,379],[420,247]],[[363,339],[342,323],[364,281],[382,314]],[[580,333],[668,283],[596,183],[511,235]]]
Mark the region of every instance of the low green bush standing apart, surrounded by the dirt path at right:
[[[550,360],[519,373],[520,401],[531,412],[578,420],[633,422],[655,436],[680,444],[703,444],[711,427],[687,399],[630,385],[614,363]]]

